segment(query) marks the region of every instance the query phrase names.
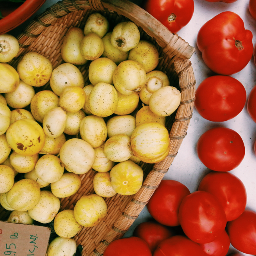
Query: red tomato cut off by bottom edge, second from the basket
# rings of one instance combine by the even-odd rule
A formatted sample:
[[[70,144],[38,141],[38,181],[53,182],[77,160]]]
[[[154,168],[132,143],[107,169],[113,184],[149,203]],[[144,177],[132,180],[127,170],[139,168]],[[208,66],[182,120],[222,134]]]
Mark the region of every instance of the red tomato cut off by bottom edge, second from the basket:
[[[163,240],[154,252],[154,256],[205,256],[199,244],[185,236],[172,236]]]

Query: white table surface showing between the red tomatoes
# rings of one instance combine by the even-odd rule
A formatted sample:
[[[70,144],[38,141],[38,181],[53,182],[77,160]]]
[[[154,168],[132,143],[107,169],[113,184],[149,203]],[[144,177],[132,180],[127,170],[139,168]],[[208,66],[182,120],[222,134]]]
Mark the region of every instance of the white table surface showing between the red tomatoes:
[[[36,14],[42,13],[46,8],[55,4],[58,0],[47,0]],[[133,0],[133,2],[141,4],[141,0]],[[188,25],[182,28],[178,35],[182,37],[191,46],[196,48],[193,56],[190,58],[196,78],[196,86],[198,86],[205,78],[214,75],[214,73],[204,64],[200,51],[196,46],[196,37],[201,26],[220,12],[232,11],[238,14],[244,21],[245,28],[250,30],[254,36],[253,44],[256,43],[256,20],[250,16],[248,11],[249,0],[237,0],[232,4],[223,2],[206,2],[205,0],[194,0],[194,14]],[[34,17],[34,16],[33,16]],[[30,19],[31,20],[31,19]],[[28,20],[22,27],[26,26]],[[13,30],[11,33],[20,32],[20,28]],[[248,65],[240,72],[232,75],[239,80],[245,87],[247,99],[250,91],[256,85],[256,66],[253,57]],[[247,104],[247,100],[246,100]],[[256,123],[252,121],[248,115],[246,104],[242,112],[226,122],[211,122],[202,118],[194,108],[192,119],[190,120],[187,136],[184,138],[182,145],[175,157],[169,171],[164,179],[172,179],[186,185],[190,192],[194,192],[198,188],[200,180],[205,174],[210,172],[204,164],[199,160],[196,154],[196,143],[198,138],[207,130],[214,127],[227,127],[235,130],[240,134],[245,145],[245,157],[242,163],[230,173],[236,175],[244,183],[247,191],[246,209],[256,211],[256,156],[254,154],[254,141],[256,140]],[[184,160],[186,156],[186,160]],[[146,207],[140,213],[139,217],[134,221],[130,230],[124,237],[132,235],[134,228],[140,223],[151,218]],[[229,253],[237,252],[231,245]],[[242,254],[248,255],[248,254]]]

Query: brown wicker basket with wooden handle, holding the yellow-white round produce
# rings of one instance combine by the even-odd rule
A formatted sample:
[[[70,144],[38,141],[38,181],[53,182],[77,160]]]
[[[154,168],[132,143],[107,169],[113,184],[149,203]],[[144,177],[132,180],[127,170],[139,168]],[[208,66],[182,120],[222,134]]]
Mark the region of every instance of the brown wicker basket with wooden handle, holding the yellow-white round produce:
[[[165,72],[171,86],[181,91],[181,103],[174,114],[168,117],[166,127],[170,132],[170,152],[166,159],[157,164],[140,162],[144,170],[142,188],[135,195],[105,198],[108,205],[108,216],[97,226],[82,228],[75,236],[77,244],[83,246],[82,256],[94,254],[102,256],[106,246],[113,240],[121,238],[138,217],[154,190],[158,187],[164,174],[176,156],[186,136],[188,124],[192,117],[195,99],[195,78],[191,62],[188,60],[194,48],[189,46],[177,34],[172,34],[158,20],[136,4],[127,0],[62,0],[36,17],[18,36],[20,51],[10,65],[16,68],[20,58],[27,52],[34,51],[49,58],[53,68],[63,63],[60,49],[64,36],[69,28],[84,28],[88,16],[98,11],[110,22],[110,30],[118,22],[131,20],[140,29],[141,38],[153,42],[160,52],[160,62],[156,70]],[[79,66],[87,84],[88,65]],[[44,90],[49,86],[46,84]],[[48,87],[49,88],[49,87]],[[80,175],[82,186],[73,196],[61,199],[61,210],[73,209],[77,200],[94,192],[92,180],[94,170]],[[10,212],[0,208],[0,220],[6,220]]]

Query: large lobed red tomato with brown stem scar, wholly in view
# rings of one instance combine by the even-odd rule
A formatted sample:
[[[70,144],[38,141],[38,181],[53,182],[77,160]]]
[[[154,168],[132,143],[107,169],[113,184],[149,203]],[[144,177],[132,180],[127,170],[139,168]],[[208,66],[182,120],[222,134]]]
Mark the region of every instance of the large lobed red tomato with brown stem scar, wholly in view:
[[[196,43],[205,64],[221,75],[242,70],[253,53],[252,32],[234,12],[221,12],[208,20],[200,28]]]

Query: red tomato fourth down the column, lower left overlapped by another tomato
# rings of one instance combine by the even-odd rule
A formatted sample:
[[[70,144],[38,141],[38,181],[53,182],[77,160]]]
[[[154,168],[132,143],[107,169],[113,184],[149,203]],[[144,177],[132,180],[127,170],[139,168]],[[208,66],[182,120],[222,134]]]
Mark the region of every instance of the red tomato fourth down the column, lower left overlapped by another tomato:
[[[229,172],[210,172],[199,184],[203,190],[216,196],[226,213],[227,221],[238,218],[246,207],[246,188],[242,181]]]

